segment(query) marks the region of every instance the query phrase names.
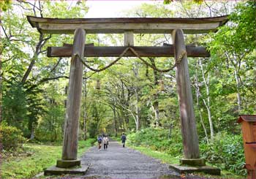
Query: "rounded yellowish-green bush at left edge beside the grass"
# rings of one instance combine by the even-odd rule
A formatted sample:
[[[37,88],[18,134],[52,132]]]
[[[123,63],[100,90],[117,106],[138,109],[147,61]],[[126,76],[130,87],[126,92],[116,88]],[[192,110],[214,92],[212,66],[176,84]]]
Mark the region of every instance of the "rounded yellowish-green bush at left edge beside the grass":
[[[16,151],[25,142],[22,132],[13,126],[0,126],[0,141],[5,151]]]

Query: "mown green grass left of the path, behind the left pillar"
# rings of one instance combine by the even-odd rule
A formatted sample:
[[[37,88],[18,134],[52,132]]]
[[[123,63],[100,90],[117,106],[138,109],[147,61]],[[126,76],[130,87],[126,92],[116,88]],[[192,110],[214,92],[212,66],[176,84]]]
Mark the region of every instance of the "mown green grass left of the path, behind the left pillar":
[[[79,141],[78,156],[87,151],[93,142],[94,139]],[[27,151],[25,156],[13,156],[1,161],[1,178],[32,178],[39,172],[56,164],[57,159],[61,159],[61,144],[38,145],[27,143],[23,147]]]

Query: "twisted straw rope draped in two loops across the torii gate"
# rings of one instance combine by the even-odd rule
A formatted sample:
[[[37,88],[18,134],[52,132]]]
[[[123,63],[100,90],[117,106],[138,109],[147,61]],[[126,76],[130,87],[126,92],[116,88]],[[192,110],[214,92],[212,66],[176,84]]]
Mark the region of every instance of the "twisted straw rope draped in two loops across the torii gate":
[[[125,53],[127,53],[128,50],[131,50],[133,54],[135,54],[135,56],[137,58],[139,58],[141,61],[143,61],[144,64],[146,64],[147,66],[150,66],[152,69],[156,70],[157,72],[169,72],[170,70],[174,69],[178,64],[181,63],[181,60],[182,58],[184,58],[185,55],[187,55],[187,52],[184,50],[181,52],[181,55],[178,56],[178,59],[176,60],[176,63],[171,66],[170,68],[168,69],[158,69],[157,66],[154,66],[154,65],[151,65],[149,64],[146,60],[144,60],[143,58],[140,57],[140,55],[132,48],[132,47],[127,47],[126,49],[124,49],[124,51],[120,54],[120,56],[118,56],[118,58],[116,58],[115,61],[112,61],[110,64],[108,64],[107,66],[103,67],[102,69],[94,69],[92,68],[91,66],[89,66],[88,64],[86,64],[82,58],[80,58],[80,56],[78,55],[75,55],[77,56],[81,63],[86,66],[87,68],[91,69],[91,71],[94,71],[94,72],[102,72],[103,70],[105,69],[108,69],[110,66],[112,66],[113,64],[116,64],[116,62],[118,62],[122,57],[124,57]]]

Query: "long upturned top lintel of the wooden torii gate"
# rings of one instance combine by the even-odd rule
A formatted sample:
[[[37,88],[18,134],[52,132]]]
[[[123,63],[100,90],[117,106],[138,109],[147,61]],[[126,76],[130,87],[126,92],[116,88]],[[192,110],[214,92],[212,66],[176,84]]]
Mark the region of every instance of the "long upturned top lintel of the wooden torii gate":
[[[27,16],[32,27],[45,34],[72,34],[83,28],[87,34],[169,34],[171,29],[184,29],[186,34],[216,31],[226,23],[227,16],[214,18],[37,18]]]

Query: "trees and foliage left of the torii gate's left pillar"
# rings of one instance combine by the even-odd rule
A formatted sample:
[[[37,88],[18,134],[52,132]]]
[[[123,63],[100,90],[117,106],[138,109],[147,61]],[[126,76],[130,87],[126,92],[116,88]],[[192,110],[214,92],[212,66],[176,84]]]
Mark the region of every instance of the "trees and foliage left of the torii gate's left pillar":
[[[65,77],[69,64],[61,59],[45,58],[44,45],[61,46],[64,42],[72,42],[72,36],[54,34],[50,39],[45,39],[48,35],[44,34],[39,39],[38,31],[31,28],[26,15],[82,18],[88,11],[86,2],[69,4],[67,1],[34,1],[33,3],[12,1],[10,3],[4,0],[1,1],[0,7],[6,4],[10,7],[1,13],[3,33],[1,33],[0,53],[1,72],[4,72],[1,73],[4,79],[1,120],[21,129],[25,137],[31,135],[33,137],[33,132],[36,130],[39,134],[39,137],[36,137],[39,140],[61,140],[64,107],[63,105],[53,107],[45,99],[54,99],[58,104],[63,104],[64,99],[61,99],[60,95],[52,98],[48,85],[42,84],[52,78]],[[29,76],[23,80],[30,67]],[[60,91],[61,83],[56,83],[55,91]],[[38,128],[39,122],[41,129]]]

